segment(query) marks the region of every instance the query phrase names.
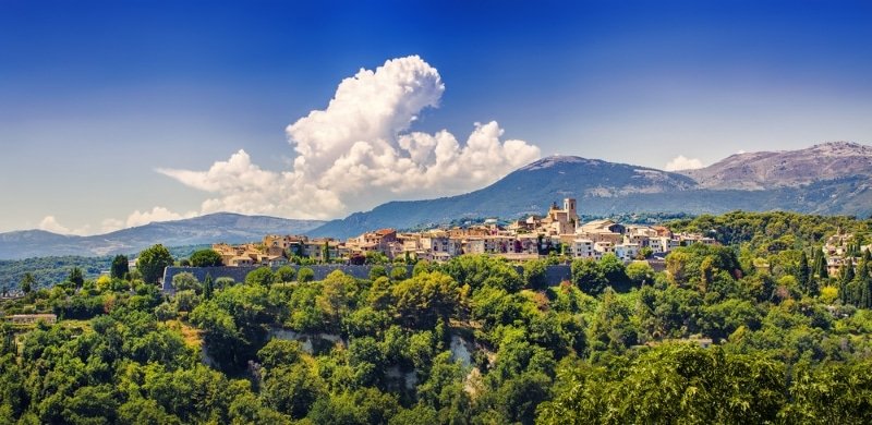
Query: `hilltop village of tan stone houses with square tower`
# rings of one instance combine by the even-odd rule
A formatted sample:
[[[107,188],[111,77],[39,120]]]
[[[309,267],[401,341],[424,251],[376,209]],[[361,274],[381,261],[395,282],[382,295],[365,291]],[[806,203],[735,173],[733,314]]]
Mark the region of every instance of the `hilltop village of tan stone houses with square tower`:
[[[366,258],[385,260],[445,262],[462,254],[488,254],[509,260],[548,255],[600,259],[606,254],[630,262],[663,257],[675,247],[703,243],[713,238],[699,233],[673,233],[663,226],[622,224],[613,220],[582,223],[573,198],[562,207],[552,205],[544,217],[530,216],[508,226],[496,220],[483,224],[399,232],[380,229],[347,241],[305,235],[266,235],[262,243],[228,245],[213,250],[226,266],[280,266],[291,260],[363,264]]]

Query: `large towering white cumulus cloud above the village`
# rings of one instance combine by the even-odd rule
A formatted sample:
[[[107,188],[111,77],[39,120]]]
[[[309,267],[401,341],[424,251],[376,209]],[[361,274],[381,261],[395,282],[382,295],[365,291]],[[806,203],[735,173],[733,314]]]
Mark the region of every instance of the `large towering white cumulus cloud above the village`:
[[[327,108],[288,126],[296,153],[288,170],[264,170],[241,149],[205,171],[157,171],[214,194],[202,212],[330,218],[397,197],[479,189],[541,156],[536,146],[501,139],[495,121],[475,123],[462,142],[446,130],[410,132],[444,92],[421,58],[389,60],[343,80]]]

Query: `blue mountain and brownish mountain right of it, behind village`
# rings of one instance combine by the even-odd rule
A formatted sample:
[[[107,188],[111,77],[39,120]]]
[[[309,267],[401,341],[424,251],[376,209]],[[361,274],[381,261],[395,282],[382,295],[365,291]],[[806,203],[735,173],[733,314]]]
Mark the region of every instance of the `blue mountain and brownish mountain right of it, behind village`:
[[[774,171],[766,172],[767,168]],[[700,170],[680,172],[554,156],[479,191],[383,204],[310,233],[348,238],[372,229],[414,228],[463,217],[513,218],[542,214],[564,197],[579,199],[579,211],[586,215],[785,209],[865,217],[872,214],[870,187],[872,147],[847,142],[737,154]]]

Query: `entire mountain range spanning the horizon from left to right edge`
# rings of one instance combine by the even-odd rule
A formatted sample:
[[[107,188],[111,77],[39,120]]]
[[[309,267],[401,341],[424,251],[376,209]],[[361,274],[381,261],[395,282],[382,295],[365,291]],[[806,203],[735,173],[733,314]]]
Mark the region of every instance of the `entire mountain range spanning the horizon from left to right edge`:
[[[872,147],[831,142],[807,149],[742,153],[677,172],[574,156],[553,156],[494,184],[458,196],[390,202],[328,222],[214,214],[154,222],[94,236],[40,230],[0,233],[0,258],[135,253],[155,243],[195,245],[303,233],[348,239],[379,228],[411,229],[463,218],[520,218],[553,202],[578,199],[580,214],[719,214],[783,209],[824,215],[872,214]]]

